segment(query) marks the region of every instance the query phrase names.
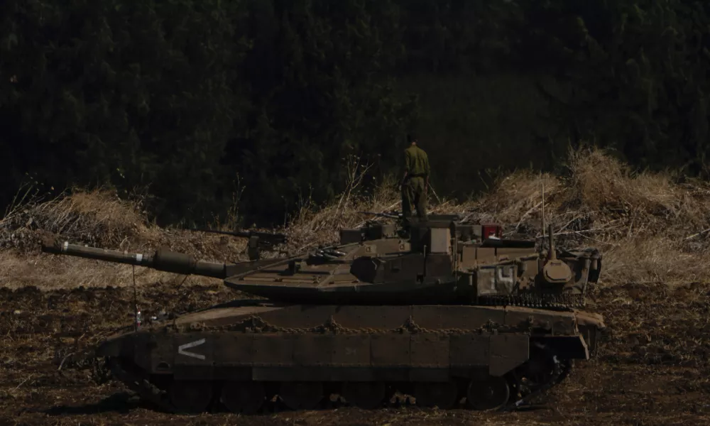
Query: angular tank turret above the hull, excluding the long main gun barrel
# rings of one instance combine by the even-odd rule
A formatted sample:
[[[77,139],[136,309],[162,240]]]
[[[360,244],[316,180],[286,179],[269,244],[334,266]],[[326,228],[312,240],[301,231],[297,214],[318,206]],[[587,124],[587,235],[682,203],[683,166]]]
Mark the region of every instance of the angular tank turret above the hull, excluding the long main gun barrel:
[[[230,275],[235,290],[282,302],[584,305],[596,283],[601,255],[595,249],[547,256],[535,241],[501,239],[496,224],[460,224],[433,217],[396,236],[393,224],[370,224],[341,233],[340,246]],[[350,232],[352,232],[350,234]]]

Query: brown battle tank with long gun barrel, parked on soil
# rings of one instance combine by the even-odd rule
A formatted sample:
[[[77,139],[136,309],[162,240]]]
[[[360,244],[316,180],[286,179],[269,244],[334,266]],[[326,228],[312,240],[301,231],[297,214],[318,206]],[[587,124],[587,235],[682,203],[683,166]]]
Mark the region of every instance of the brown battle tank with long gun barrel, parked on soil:
[[[219,278],[262,297],[141,324],[93,351],[114,378],[173,412],[269,401],[312,409],[337,395],[375,409],[513,409],[594,355],[603,318],[580,310],[596,249],[501,238],[496,224],[432,216],[343,229],[339,244],[288,258],[214,263],[50,239],[43,251]]]

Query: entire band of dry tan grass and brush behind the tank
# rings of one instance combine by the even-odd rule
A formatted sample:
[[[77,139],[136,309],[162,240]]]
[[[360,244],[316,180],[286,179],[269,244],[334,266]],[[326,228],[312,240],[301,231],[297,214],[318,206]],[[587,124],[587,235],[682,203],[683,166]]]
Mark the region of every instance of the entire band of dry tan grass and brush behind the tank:
[[[307,204],[285,229],[278,230],[290,240],[282,249],[293,253],[332,244],[339,229],[376,219],[359,212],[400,209],[393,180],[363,194],[360,186],[368,167],[355,159],[349,160],[348,167],[348,185],[337,200],[325,206]],[[521,170],[501,179],[476,200],[457,203],[430,193],[430,210],[457,212],[474,222],[500,222],[509,236],[540,239],[541,182],[545,222],[554,226],[559,244],[603,250],[605,283],[678,285],[710,275],[710,255],[706,253],[710,185],[681,182],[671,173],[634,173],[596,148],[571,151],[563,174]],[[244,239],[160,229],[139,206],[121,200],[114,192],[76,191],[48,202],[20,205],[0,221],[0,248],[6,249],[0,285],[100,286],[122,285],[132,279],[127,266],[98,267],[94,261],[40,256],[38,242],[47,231],[77,244],[111,249],[152,251],[168,246],[217,261],[246,259]],[[140,274],[143,282],[169,279],[169,274]]]

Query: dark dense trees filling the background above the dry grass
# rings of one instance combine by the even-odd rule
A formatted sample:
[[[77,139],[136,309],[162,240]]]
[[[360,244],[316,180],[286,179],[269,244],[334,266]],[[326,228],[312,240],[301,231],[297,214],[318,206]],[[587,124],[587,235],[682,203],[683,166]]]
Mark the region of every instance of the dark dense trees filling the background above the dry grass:
[[[5,0],[0,205],[26,180],[155,196],[163,222],[281,222],[398,172],[439,193],[569,143],[705,170],[710,7],[685,0]],[[238,199],[238,200],[237,200]],[[256,219],[258,218],[258,220]]]

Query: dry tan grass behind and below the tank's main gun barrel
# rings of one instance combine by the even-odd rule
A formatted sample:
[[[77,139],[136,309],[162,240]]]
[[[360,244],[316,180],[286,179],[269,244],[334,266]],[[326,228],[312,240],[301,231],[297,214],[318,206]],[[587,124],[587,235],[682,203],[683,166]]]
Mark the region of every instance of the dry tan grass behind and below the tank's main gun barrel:
[[[217,234],[161,229],[150,222],[141,206],[121,200],[115,192],[76,190],[48,202],[15,206],[0,220],[0,287],[43,289],[123,287],[133,284],[131,266],[40,253],[47,233],[73,244],[114,250],[154,251],[168,247],[198,258],[239,261],[246,257],[246,241]],[[184,276],[136,268],[136,283],[176,283]],[[191,276],[193,284],[214,280]]]

